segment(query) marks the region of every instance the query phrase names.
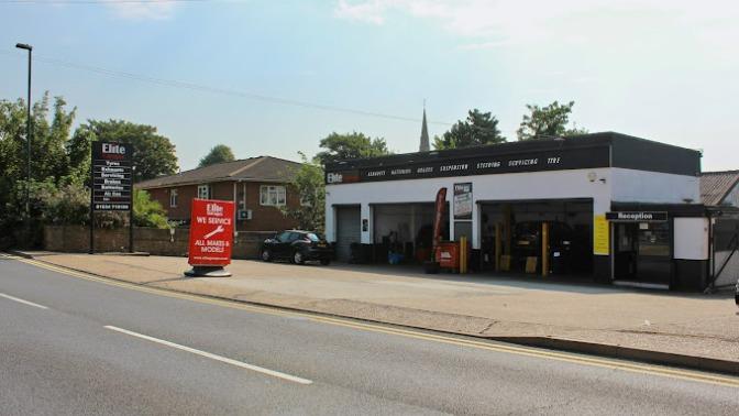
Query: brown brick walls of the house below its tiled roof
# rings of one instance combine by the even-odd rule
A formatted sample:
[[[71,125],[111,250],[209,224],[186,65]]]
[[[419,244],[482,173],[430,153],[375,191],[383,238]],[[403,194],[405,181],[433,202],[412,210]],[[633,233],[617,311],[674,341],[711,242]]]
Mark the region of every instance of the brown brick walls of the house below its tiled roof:
[[[219,182],[211,185],[211,198],[221,200],[233,200],[233,182]],[[286,218],[277,207],[265,207],[260,204],[260,187],[262,185],[275,185],[269,183],[258,182],[242,182],[236,183],[236,200],[244,200],[245,209],[252,210],[252,219],[236,221],[236,229],[239,231],[278,231],[297,227],[295,220]],[[170,189],[177,189],[177,207],[169,206]],[[167,218],[170,220],[189,220],[190,219],[190,202],[192,198],[198,195],[198,185],[184,185],[169,188],[147,189],[152,199],[162,204],[162,207],[167,211]],[[287,189],[287,205],[297,207],[300,204],[300,198],[297,193]],[[236,209],[241,207],[236,206]]]

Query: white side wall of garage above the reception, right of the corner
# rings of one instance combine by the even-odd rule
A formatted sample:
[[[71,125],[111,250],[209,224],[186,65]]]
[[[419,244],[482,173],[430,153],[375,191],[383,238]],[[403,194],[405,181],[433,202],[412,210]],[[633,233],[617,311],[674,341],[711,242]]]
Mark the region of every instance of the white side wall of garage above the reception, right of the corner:
[[[695,176],[611,168],[613,200],[618,202],[701,202],[701,184]]]

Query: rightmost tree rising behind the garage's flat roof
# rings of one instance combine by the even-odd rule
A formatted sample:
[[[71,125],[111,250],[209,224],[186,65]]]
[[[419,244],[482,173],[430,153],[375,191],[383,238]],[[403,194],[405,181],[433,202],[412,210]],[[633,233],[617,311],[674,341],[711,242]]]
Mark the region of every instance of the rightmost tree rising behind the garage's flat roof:
[[[567,128],[570,114],[575,101],[566,105],[560,105],[554,101],[545,107],[527,105],[526,108],[531,112],[523,114],[523,120],[516,132],[518,140],[547,139],[551,136],[585,134],[587,130],[577,128]]]

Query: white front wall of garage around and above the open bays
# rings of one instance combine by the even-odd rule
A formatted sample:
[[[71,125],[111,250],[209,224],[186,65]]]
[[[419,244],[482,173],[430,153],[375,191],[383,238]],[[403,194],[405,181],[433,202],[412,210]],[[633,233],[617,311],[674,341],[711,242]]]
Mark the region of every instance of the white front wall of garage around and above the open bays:
[[[595,175],[593,182],[588,177],[593,176],[591,173]],[[595,214],[604,214],[610,210],[610,175],[611,168],[595,168],[327,185],[326,236],[329,241],[335,241],[334,205],[361,204],[362,218],[372,221],[370,204],[433,202],[437,191],[444,186],[450,201],[453,184],[461,182],[473,183],[475,204],[481,200],[593,198]],[[472,242],[475,249],[479,249],[478,217],[479,210],[474,209]],[[452,231],[450,236],[454,234]],[[372,243],[372,232],[371,225],[366,232],[362,232],[362,243]]]

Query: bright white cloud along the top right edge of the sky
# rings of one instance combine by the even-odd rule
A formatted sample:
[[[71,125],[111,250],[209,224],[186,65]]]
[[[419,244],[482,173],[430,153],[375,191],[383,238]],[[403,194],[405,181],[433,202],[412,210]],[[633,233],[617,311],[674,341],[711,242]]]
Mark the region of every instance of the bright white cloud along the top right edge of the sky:
[[[629,20],[644,17],[658,25],[672,20],[687,32],[705,29],[696,35],[712,41],[739,34],[735,23],[739,8],[730,0],[339,0],[334,8],[340,19],[371,24],[386,23],[394,12],[433,20],[471,39],[463,46],[468,50],[551,40],[559,33],[577,32],[580,24],[587,30],[605,24],[603,30],[628,36]],[[591,35],[571,35],[567,41],[582,43]]]

